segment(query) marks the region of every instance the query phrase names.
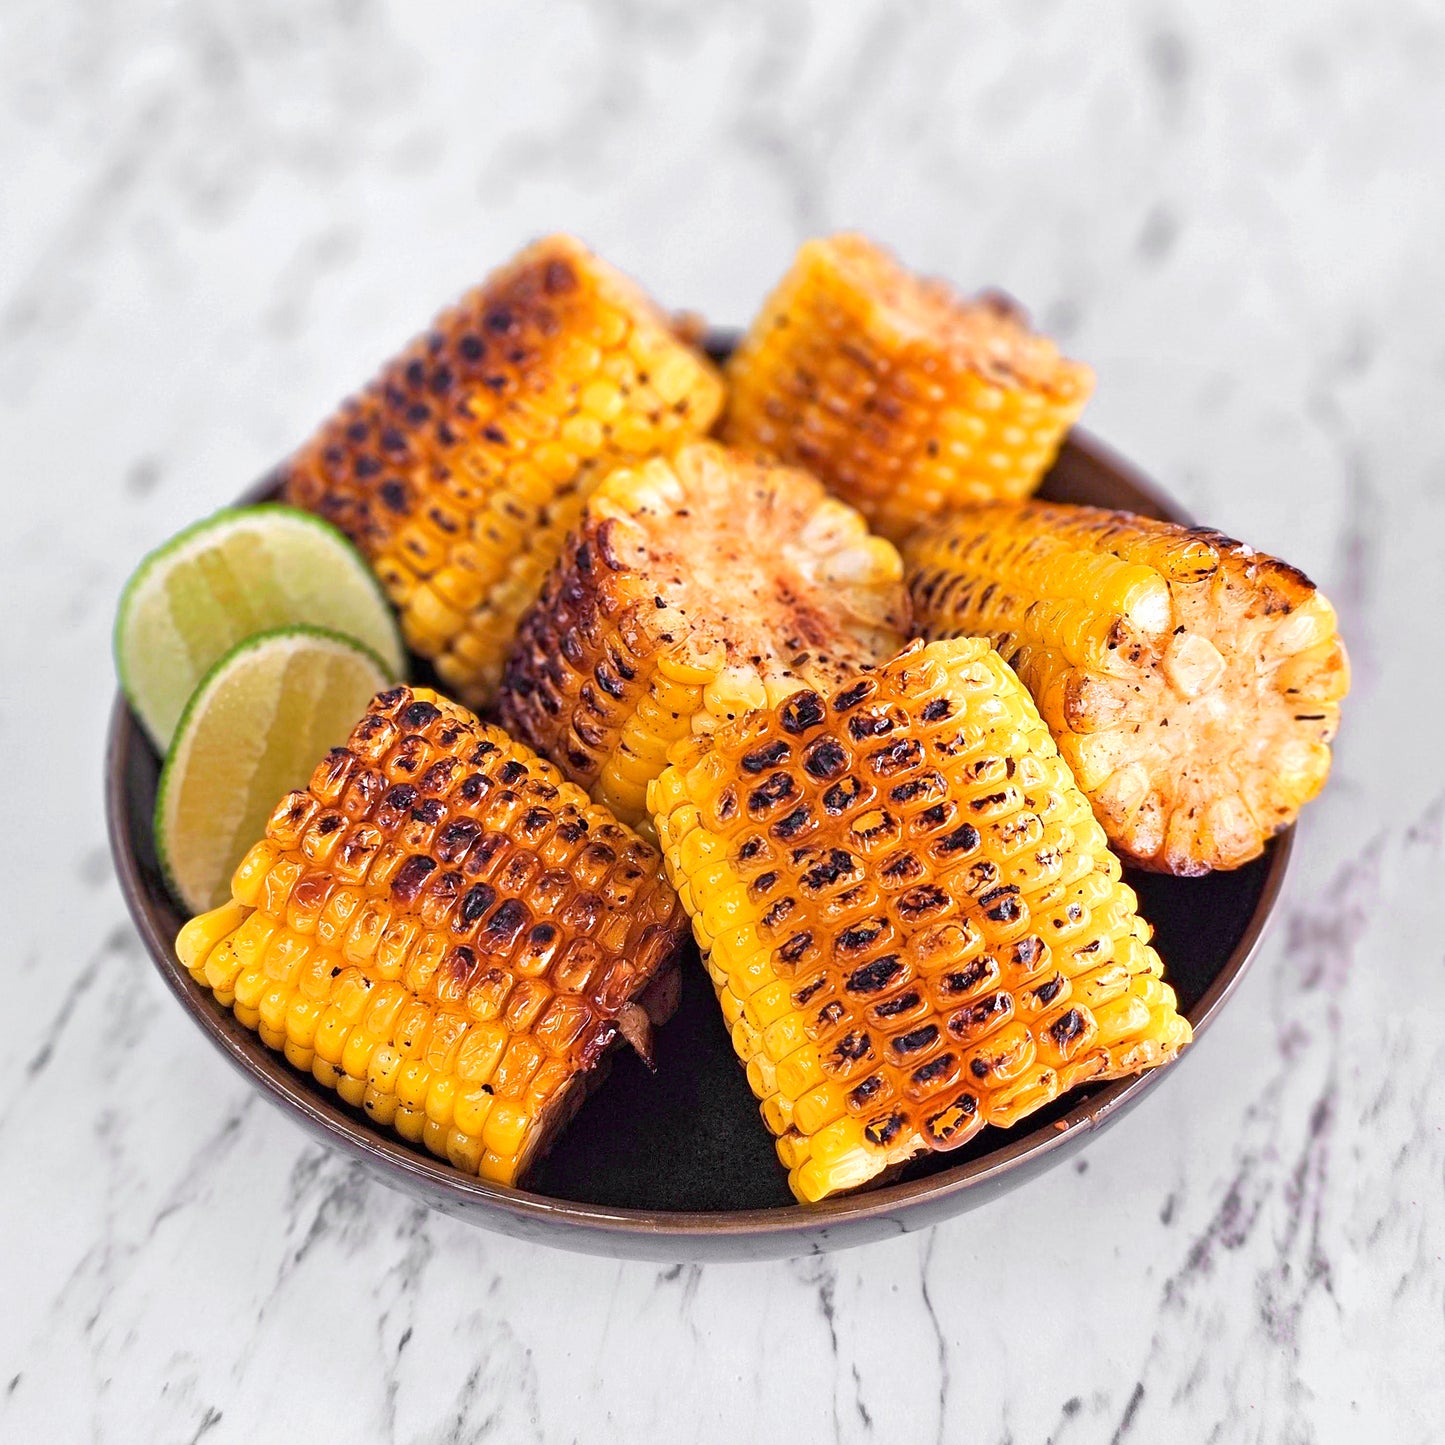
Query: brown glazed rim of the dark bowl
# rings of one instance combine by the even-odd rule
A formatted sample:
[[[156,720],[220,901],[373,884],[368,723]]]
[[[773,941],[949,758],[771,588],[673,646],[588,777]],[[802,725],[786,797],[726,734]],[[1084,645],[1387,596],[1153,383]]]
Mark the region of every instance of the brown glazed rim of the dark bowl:
[[[1074,428],[1064,447],[1084,454],[1090,462],[1121,477],[1160,516],[1189,522],[1178,503],[1088,432]],[[250,488],[238,504],[256,500],[267,484],[263,480]],[[1003,1147],[952,1168],[939,1169],[919,1179],[881,1185],[861,1194],[841,1195],[819,1204],[743,1209],[644,1209],[559,1199],[529,1189],[494,1185],[465,1175],[444,1160],[413,1149],[406,1140],[351,1117],[340,1104],[331,1104],[318,1097],[303,1075],[293,1069],[280,1053],[267,1049],[256,1033],[246,1029],[228,1009],[217,1004],[211,993],[191,977],[176,957],[173,939],[162,926],[159,916],[162,905],[142,870],[134,844],[133,834],[139,819],[129,808],[127,764],[137,747],[149,749],[150,744],[131,714],[124,694],[117,691],[105,746],[105,816],[110,850],[130,916],[171,993],[238,1072],[257,1085],[273,1104],[301,1114],[302,1121],[311,1127],[314,1134],[325,1137],[334,1147],[371,1166],[386,1182],[397,1186],[407,1182],[425,1186],[429,1202],[444,1208],[449,1204],[458,1212],[477,1217],[478,1222],[487,1222],[488,1215],[501,1214],[509,1215],[522,1227],[517,1233],[527,1231],[529,1225],[545,1228],[574,1225],[584,1231],[652,1238],[653,1241],[698,1235],[712,1238],[727,1235],[741,1240],[760,1235],[769,1238],[796,1235],[806,1247],[805,1235],[827,1234],[829,1225],[890,1220],[896,1222],[900,1212],[912,1214],[916,1207],[942,1204],[1000,1181],[1025,1163],[1046,1162],[1051,1155],[1075,1142],[1079,1131],[1091,1133],[1101,1129],[1121,1108],[1155,1088],[1176,1066],[1149,1069],[1131,1078],[1107,1082],[1081,1098],[1061,1118],[1039,1124]],[[1290,827],[1269,845],[1266,874],[1248,922],[1214,981],[1195,1006],[1188,1010],[1186,1016],[1195,1036],[1189,1052],[1198,1045],[1201,1035],[1238,987],[1248,962],[1259,951],[1264,931],[1276,910],[1293,841],[1295,828]]]

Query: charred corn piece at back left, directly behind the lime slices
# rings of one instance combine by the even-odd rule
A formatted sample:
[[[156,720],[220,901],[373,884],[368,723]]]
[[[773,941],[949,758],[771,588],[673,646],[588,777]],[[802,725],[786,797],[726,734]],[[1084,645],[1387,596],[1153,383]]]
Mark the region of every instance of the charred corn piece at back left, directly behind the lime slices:
[[[283,468],[371,559],[410,649],[486,704],[610,461],[701,435],[712,366],[624,276],[538,241],[412,342]]]

